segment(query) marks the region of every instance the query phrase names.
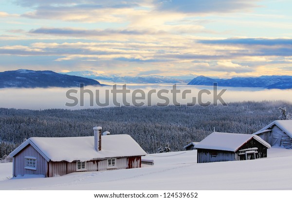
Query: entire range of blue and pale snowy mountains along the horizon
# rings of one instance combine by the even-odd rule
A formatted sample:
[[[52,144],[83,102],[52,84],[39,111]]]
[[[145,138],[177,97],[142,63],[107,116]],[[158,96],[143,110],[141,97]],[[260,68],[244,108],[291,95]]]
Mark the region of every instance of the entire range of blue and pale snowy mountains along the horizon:
[[[179,77],[179,76],[177,76]],[[166,76],[136,76],[121,77],[118,75],[104,75],[91,71],[55,73],[53,71],[33,71],[19,69],[16,71],[0,72],[0,88],[8,87],[79,87],[84,85],[103,85],[97,80],[117,83],[187,83],[187,80],[177,79]],[[198,76],[188,82],[188,85],[213,85],[225,87],[261,87],[267,89],[291,89],[292,76],[261,76],[232,79],[212,79],[209,77]]]

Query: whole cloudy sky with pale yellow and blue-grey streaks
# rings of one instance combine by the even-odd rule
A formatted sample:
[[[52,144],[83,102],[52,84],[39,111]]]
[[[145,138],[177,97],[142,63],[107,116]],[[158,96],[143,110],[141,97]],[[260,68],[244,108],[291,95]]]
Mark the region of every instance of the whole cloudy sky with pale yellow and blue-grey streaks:
[[[0,2],[0,71],[292,75],[291,0]]]

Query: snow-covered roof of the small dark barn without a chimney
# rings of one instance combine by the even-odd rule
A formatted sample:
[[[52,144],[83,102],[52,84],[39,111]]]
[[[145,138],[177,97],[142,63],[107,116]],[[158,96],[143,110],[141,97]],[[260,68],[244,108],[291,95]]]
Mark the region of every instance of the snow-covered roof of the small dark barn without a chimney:
[[[256,135],[213,132],[204,140],[201,140],[201,142],[196,145],[196,149],[216,149],[236,152],[243,144],[252,138],[266,147],[271,148],[270,144]]]

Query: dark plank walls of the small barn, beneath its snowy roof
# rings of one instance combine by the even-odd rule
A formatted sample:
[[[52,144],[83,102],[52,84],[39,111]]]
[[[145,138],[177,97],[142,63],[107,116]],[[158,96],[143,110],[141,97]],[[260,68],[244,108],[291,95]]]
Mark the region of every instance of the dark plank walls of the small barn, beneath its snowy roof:
[[[235,161],[245,160],[245,155],[239,155],[239,151],[249,148],[257,148],[256,159],[267,157],[267,147],[252,138],[244,143],[236,152],[222,151],[216,149],[198,149],[197,150],[197,162],[219,162],[219,161]]]

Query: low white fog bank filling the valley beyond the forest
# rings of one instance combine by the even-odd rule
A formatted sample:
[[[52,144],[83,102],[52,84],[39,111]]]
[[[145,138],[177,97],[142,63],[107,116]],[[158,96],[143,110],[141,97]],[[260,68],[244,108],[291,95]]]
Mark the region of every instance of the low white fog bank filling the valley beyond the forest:
[[[122,85],[117,85],[116,88],[88,86],[85,88],[0,89],[0,107],[33,110],[50,108],[75,110],[125,104],[150,106],[188,103],[212,106],[216,105],[216,102],[220,105],[222,102],[228,104],[228,102],[248,100],[292,102],[292,90],[218,87],[218,91],[215,91],[213,86],[173,86],[170,84],[127,84],[124,90]]]

